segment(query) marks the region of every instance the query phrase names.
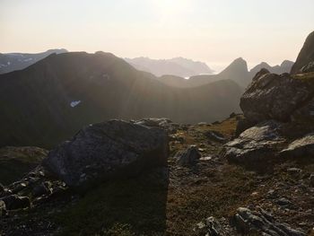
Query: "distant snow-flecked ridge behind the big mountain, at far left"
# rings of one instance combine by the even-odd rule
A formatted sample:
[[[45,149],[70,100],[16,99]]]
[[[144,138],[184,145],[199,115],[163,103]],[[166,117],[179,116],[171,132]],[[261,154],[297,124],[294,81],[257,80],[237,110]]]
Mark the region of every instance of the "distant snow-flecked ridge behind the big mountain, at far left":
[[[27,66],[38,62],[39,60],[48,57],[53,53],[65,53],[65,49],[50,49],[42,53],[5,53],[0,54],[0,74],[9,73],[16,70],[22,70]]]

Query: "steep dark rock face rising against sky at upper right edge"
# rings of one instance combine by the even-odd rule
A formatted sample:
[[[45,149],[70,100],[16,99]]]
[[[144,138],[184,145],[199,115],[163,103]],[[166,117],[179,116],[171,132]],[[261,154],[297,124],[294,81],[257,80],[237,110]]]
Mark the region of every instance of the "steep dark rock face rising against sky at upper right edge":
[[[314,61],[314,31],[305,40],[303,48],[301,48],[301,52],[292,66],[291,74],[299,73],[301,68],[311,61]]]

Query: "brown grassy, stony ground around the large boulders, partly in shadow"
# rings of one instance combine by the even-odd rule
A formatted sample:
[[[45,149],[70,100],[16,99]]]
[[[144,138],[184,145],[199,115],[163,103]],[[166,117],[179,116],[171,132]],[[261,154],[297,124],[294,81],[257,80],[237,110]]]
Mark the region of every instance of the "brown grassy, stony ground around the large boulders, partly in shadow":
[[[6,189],[30,202],[13,201],[17,209],[3,213],[0,234],[313,235],[313,160],[273,160],[261,170],[228,162],[223,144],[240,119],[173,124],[167,127],[168,167],[84,194],[34,170],[24,178],[26,187],[19,182]]]

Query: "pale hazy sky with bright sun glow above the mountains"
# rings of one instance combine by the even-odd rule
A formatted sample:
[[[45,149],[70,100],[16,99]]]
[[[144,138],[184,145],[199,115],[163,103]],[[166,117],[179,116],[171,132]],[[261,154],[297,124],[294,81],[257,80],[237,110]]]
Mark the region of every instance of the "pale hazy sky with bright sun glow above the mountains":
[[[313,0],[0,0],[0,52],[106,51],[187,57],[221,70],[295,60]]]

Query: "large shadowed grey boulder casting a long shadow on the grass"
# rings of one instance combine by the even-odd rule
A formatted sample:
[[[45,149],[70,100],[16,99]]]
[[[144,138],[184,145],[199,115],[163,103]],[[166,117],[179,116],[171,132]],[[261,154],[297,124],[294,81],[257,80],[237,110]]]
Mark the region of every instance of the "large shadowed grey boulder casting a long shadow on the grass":
[[[166,165],[168,154],[168,135],[163,129],[110,120],[84,127],[48,153],[43,165],[69,187],[84,189]]]

